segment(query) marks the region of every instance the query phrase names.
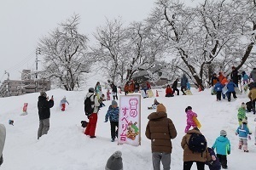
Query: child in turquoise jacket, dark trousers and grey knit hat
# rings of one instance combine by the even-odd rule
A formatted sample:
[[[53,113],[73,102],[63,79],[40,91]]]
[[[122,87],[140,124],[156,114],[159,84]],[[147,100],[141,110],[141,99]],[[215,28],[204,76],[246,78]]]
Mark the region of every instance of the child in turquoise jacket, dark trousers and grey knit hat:
[[[227,155],[230,155],[230,140],[226,137],[227,133],[224,130],[220,131],[220,136],[215,140],[212,149],[216,148],[217,157],[224,169],[228,168]]]

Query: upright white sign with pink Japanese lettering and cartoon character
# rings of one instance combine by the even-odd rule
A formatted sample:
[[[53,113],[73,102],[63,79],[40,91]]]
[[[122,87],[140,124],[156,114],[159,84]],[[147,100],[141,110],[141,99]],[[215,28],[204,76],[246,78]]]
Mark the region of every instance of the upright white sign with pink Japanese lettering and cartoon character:
[[[119,99],[119,144],[141,144],[141,96],[126,95]]]

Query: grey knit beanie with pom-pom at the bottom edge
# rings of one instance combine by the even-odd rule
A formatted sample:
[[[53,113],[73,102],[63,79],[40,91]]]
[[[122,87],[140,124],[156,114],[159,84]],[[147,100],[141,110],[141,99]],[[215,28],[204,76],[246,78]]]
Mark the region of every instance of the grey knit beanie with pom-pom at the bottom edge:
[[[108,158],[105,170],[123,170],[122,152],[117,150]]]

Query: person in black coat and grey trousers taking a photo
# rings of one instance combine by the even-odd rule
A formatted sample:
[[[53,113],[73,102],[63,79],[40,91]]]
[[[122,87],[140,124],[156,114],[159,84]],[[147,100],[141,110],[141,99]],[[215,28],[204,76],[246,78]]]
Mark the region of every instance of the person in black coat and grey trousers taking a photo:
[[[38,115],[39,115],[39,128],[38,128],[38,139],[47,134],[49,131],[49,117],[50,111],[49,108],[54,106],[54,99],[51,96],[51,99],[48,100],[47,94],[42,91],[38,97]]]

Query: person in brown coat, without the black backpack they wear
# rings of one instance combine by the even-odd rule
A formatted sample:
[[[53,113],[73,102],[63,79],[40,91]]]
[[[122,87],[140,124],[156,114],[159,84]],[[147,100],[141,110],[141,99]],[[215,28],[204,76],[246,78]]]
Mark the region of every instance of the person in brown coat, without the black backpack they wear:
[[[190,170],[193,162],[196,162],[196,166],[198,170],[205,169],[205,161],[211,161],[211,156],[206,150],[202,153],[194,152],[189,150],[189,138],[192,133],[202,134],[197,127],[192,130],[189,130],[182,139],[181,146],[183,148],[183,170]]]

